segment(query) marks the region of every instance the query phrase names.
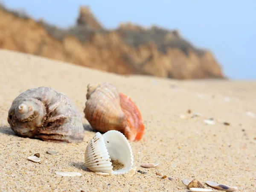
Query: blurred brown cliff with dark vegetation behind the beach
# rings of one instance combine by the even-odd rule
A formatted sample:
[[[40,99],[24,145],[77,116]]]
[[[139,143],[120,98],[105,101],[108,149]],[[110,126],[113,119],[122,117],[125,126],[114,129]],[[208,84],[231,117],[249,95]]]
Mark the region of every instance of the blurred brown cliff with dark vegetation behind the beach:
[[[76,23],[61,29],[0,6],[0,48],[119,74],[224,78],[211,52],[194,47],[177,30],[131,23],[108,30],[87,6],[80,8]]]

